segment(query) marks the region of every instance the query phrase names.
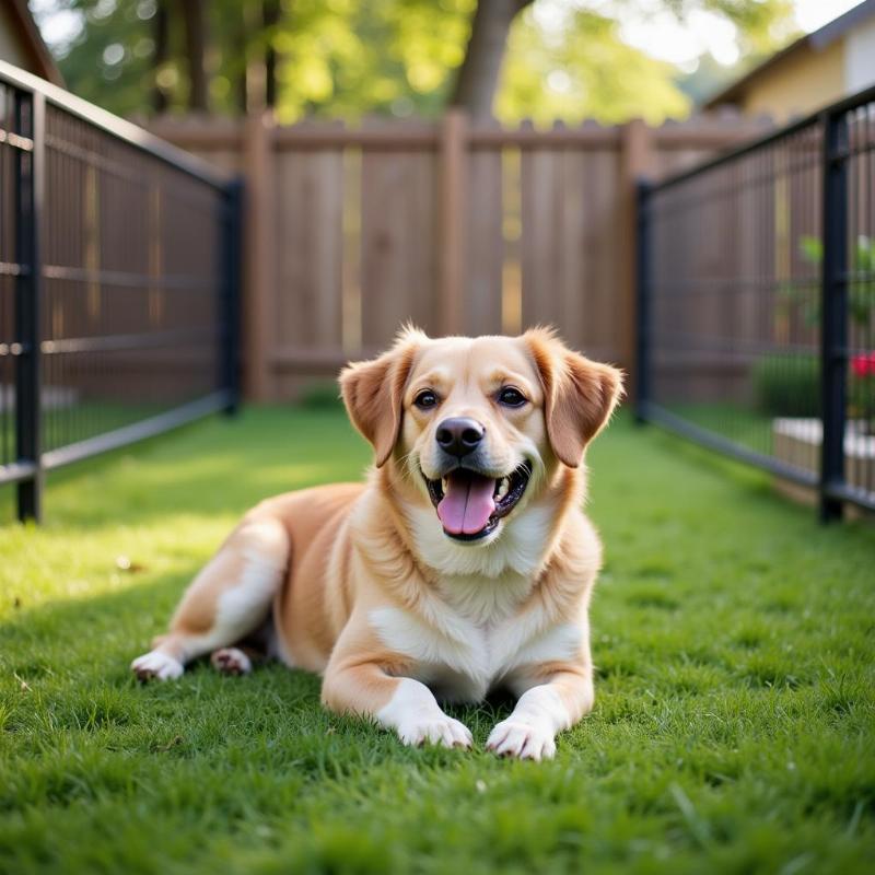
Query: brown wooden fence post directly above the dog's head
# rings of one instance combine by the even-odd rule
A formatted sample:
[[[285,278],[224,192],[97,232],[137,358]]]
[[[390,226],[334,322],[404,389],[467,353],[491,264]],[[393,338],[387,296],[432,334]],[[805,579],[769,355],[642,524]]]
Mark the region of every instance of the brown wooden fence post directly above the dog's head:
[[[447,110],[441,131],[441,326],[446,335],[465,330],[465,219],[467,190],[467,116]]]

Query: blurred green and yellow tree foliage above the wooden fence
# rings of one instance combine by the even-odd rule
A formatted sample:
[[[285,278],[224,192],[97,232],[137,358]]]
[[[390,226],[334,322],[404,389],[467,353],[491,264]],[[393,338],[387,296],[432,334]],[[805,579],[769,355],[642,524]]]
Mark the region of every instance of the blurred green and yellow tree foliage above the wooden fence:
[[[651,122],[786,43],[791,0],[480,0],[503,37],[489,105],[506,122],[533,118]],[[303,116],[435,117],[459,97],[477,0],[31,0],[37,20],[65,19],[49,40],[68,86],[127,116],[272,106]],[[502,14],[506,22],[487,19]],[[634,10],[633,10],[634,8]],[[623,42],[623,15],[705,12],[735,30],[734,66],[703,55],[684,70]],[[509,11],[510,10],[510,11]],[[503,61],[503,62],[502,62]],[[500,73],[498,70],[500,69]],[[482,78],[482,74],[478,72]],[[489,74],[486,74],[489,78]],[[492,97],[494,96],[494,101]]]

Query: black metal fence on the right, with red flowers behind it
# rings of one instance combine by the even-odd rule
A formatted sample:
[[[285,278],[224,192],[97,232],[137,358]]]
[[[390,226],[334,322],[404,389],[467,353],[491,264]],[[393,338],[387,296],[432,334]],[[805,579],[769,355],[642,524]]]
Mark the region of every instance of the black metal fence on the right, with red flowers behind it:
[[[639,418],[875,510],[875,89],[639,214]]]

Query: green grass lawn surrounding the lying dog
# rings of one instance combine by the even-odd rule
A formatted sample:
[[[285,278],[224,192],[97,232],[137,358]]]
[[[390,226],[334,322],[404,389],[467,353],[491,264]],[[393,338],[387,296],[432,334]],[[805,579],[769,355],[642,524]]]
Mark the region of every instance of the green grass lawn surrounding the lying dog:
[[[355,477],[331,410],[249,410],[55,478],[0,528],[0,872],[854,873],[875,856],[875,532],[618,420],[595,711],[555,761],[407,749],[318,680],[131,657],[258,498]],[[129,571],[117,567],[130,559]]]

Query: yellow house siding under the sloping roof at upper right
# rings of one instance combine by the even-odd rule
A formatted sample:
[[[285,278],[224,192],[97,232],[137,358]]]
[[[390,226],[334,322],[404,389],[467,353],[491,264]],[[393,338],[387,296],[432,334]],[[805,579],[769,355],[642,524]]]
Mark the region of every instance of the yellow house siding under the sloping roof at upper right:
[[[745,89],[740,105],[748,115],[785,121],[814,113],[844,94],[844,40],[837,39],[822,51],[806,46],[763,70]]]

